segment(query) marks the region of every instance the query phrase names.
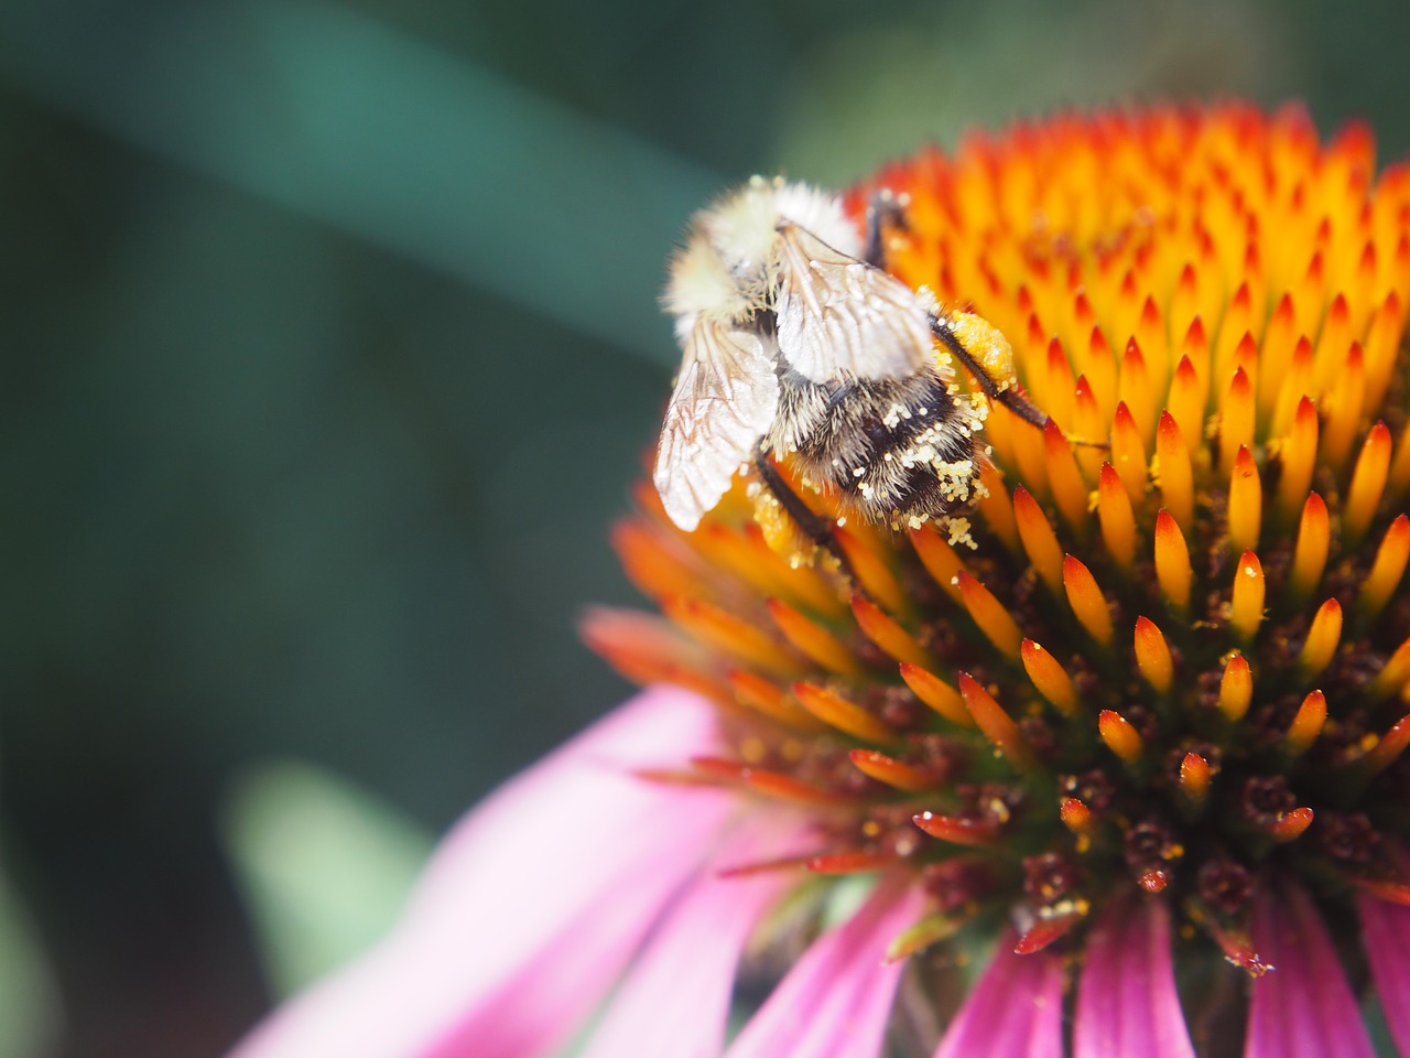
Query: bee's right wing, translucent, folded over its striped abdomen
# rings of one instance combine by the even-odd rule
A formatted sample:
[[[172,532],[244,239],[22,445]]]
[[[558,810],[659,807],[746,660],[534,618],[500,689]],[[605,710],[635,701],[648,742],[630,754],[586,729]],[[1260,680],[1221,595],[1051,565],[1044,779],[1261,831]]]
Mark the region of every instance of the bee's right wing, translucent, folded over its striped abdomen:
[[[931,360],[929,313],[890,272],[791,223],[778,229],[777,264],[778,347],[814,382],[905,375]]]

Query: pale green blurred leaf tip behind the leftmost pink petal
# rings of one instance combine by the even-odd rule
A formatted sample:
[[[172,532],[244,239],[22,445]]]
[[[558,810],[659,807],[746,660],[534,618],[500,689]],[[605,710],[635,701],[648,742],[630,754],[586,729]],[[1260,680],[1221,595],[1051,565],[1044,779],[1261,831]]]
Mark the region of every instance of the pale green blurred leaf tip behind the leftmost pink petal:
[[[379,940],[433,845],[389,805],[299,762],[237,782],[224,841],[281,996]]]

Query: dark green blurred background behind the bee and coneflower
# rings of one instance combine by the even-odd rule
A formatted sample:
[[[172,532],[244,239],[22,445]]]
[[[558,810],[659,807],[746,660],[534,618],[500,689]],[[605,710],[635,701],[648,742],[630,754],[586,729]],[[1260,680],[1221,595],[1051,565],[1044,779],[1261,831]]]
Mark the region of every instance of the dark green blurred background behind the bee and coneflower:
[[[689,212],[1062,104],[1410,151],[1402,3],[8,0],[0,1058],[214,1055],[627,694]]]

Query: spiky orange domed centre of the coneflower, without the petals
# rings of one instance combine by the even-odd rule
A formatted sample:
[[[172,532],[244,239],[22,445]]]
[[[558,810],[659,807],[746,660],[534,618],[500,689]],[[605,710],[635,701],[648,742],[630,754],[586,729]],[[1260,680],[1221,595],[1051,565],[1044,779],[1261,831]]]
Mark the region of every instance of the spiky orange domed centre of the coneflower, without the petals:
[[[1067,942],[1136,886],[1262,972],[1265,879],[1410,893],[1410,171],[1224,104],[976,134],[859,223],[880,190],[887,267],[998,326],[1052,419],[993,408],[974,547],[847,522],[846,570],[795,567],[744,504],[687,535],[646,495],[613,540],[671,624],[591,638],[722,700],[699,777],[818,805],[815,870],[916,872],[907,951],[1014,904]]]

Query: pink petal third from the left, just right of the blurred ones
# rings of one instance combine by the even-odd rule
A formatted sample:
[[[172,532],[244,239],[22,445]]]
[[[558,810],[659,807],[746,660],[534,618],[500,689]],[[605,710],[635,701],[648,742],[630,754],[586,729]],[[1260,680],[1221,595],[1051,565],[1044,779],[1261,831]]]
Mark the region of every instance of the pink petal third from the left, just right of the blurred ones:
[[[881,1051],[902,962],[887,945],[919,916],[924,897],[883,884],[847,923],[823,934],[749,1020],[726,1058],[874,1058]]]

